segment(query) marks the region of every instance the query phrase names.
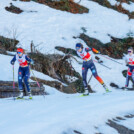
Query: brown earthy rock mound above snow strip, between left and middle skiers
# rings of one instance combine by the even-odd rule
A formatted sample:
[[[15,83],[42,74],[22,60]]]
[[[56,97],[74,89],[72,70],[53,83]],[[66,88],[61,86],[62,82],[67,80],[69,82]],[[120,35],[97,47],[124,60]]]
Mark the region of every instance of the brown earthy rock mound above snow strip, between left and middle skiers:
[[[68,62],[69,55],[29,53],[28,54],[34,61],[35,65],[32,66],[35,70],[43,72],[52,78],[58,79],[64,83],[69,83],[66,75],[81,78],[80,74],[75,71],[72,65]]]

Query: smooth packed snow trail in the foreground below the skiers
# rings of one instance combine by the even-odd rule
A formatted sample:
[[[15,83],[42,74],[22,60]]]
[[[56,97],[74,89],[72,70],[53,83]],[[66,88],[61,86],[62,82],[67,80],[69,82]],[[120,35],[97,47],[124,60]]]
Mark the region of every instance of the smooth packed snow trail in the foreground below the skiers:
[[[94,127],[105,125],[107,119],[134,113],[134,92],[94,93],[87,97],[78,95],[57,92],[45,99],[34,96],[30,101],[1,99],[1,133],[73,134],[73,130],[78,130],[94,134]],[[109,134],[114,133],[111,131]]]

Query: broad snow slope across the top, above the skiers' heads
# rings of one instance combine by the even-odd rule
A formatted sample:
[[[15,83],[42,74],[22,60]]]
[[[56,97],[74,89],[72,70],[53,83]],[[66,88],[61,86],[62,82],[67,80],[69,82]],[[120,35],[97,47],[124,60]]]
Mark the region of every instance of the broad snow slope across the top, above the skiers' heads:
[[[19,15],[7,12],[4,8],[10,2],[25,12]],[[74,48],[81,40],[73,39],[73,36],[82,33],[82,27],[87,29],[87,35],[103,43],[110,41],[108,34],[121,38],[126,37],[130,30],[134,31],[134,20],[129,21],[127,15],[88,0],[80,3],[90,10],[82,15],[51,9],[32,1],[1,0],[0,4],[0,34],[13,37],[13,30],[17,30],[20,46],[27,50],[30,50],[32,40],[36,45],[42,43],[37,49],[43,53],[54,53],[55,46]],[[8,23],[5,25],[5,22]]]

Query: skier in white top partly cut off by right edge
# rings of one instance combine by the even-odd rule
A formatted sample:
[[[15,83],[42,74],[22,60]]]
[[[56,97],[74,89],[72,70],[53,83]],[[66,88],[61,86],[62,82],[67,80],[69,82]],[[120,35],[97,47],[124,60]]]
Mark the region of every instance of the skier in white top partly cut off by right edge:
[[[128,48],[128,54],[125,56],[125,62],[128,66],[126,85],[125,85],[125,87],[127,88],[131,77],[132,77],[133,84],[134,84],[134,54],[133,54],[132,47]]]

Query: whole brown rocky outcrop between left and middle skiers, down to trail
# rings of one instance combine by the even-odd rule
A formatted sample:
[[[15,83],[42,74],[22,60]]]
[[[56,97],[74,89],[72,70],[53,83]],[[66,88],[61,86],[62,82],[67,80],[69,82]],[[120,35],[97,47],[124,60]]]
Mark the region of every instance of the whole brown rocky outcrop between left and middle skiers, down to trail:
[[[29,53],[29,56],[35,61],[35,65],[32,66],[33,69],[59,80],[59,82],[46,81],[37,78],[40,82],[65,93],[83,92],[81,75],[75,71],[69,62],[70,55]],[[64,86],[62,83],[67,86]]]

